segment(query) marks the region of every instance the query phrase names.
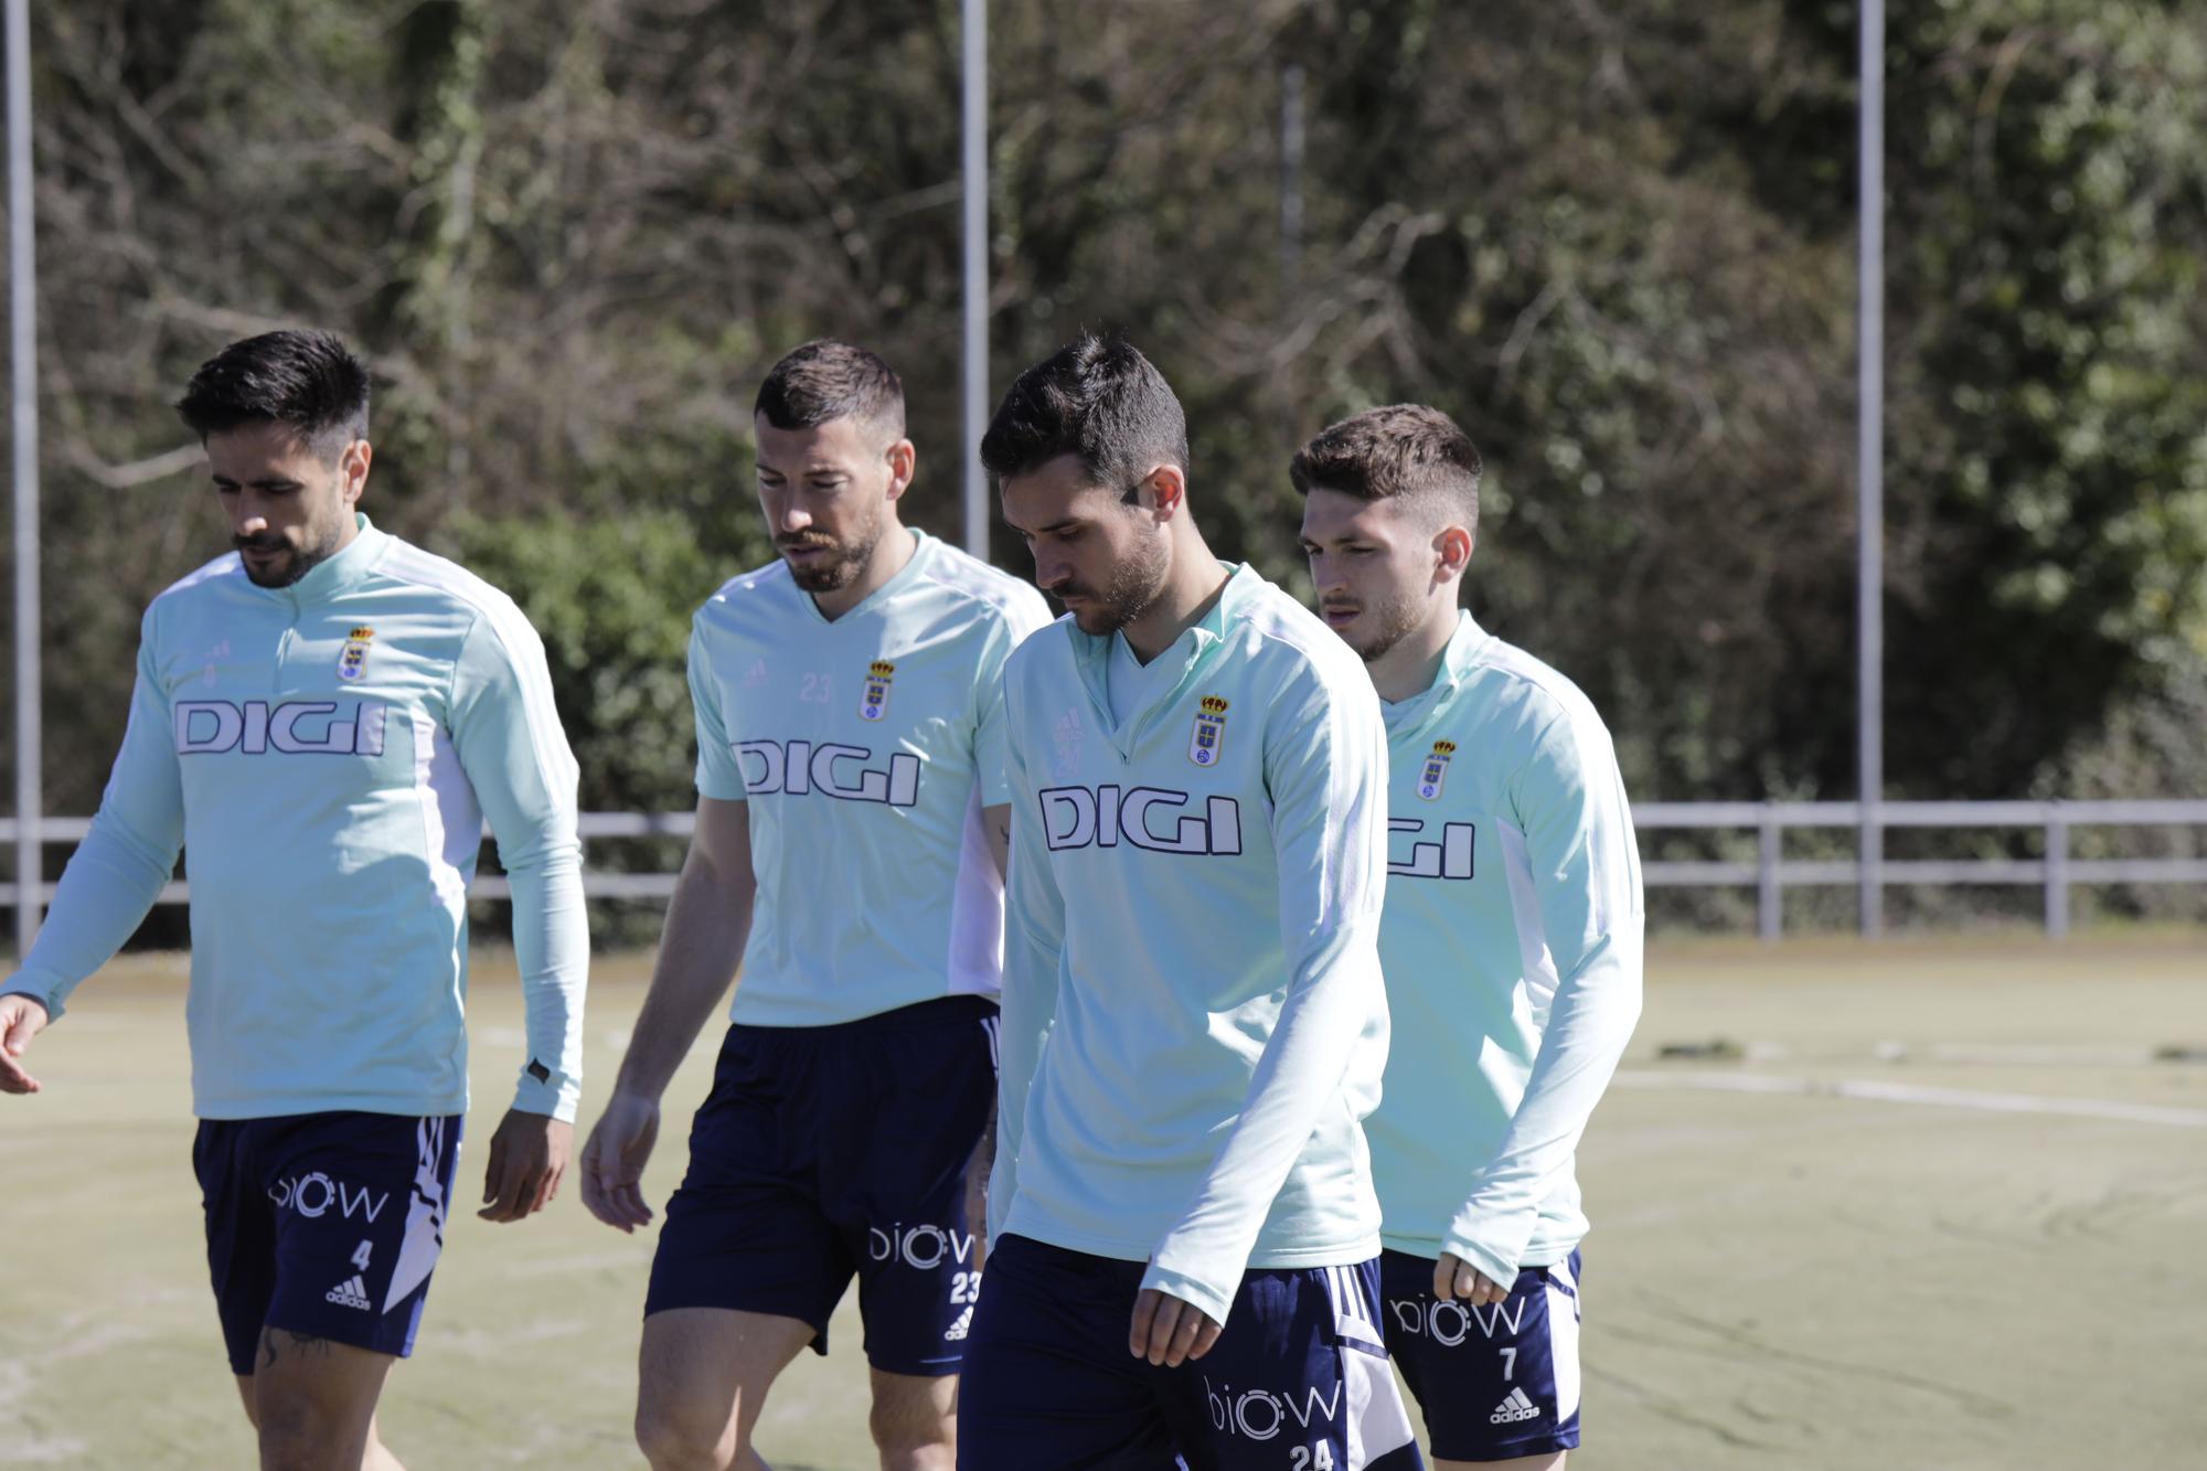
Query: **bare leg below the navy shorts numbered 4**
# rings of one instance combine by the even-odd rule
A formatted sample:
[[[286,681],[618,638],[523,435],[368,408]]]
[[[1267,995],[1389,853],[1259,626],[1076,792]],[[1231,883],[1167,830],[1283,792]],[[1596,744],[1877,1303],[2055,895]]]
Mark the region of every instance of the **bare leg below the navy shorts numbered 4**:
[[[238,1378],[260,1438],[260,1471],[404,1471],[375,1433],[375,1400],[393,1363],[391,1354],[263,1327],[254,1374]]]

